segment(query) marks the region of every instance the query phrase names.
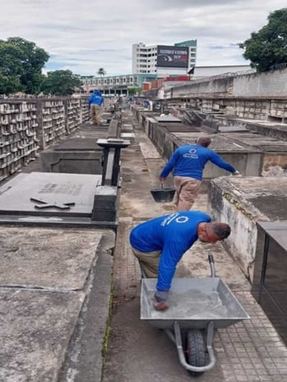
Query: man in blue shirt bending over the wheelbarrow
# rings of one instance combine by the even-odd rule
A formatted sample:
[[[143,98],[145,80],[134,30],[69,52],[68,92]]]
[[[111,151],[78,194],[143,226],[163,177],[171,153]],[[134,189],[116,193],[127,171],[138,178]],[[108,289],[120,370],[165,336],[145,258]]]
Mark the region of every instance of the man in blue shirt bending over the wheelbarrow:
[[[177,263],[196,240],[216,243],[229,235],[228,224],[211,223],[210,216],[201,211],[174,212],[133,228],[133,254],[147,277],[157,277],[154,307],[168,308],[166,301]]]

